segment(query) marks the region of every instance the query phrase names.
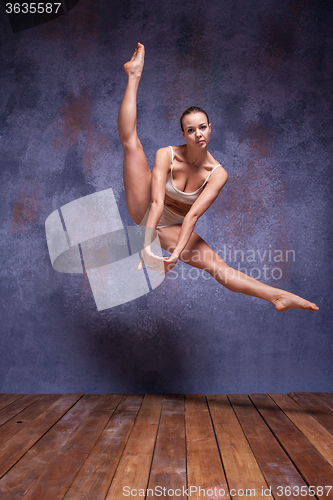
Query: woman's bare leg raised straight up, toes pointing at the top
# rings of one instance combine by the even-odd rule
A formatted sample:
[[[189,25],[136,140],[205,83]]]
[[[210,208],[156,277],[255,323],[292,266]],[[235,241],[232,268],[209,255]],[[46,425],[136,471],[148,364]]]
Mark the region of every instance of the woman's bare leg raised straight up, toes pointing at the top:
[[[128,75],[118,116],[118,133],[124,149],[124,188],[127,211],[140,224],[151,201],[151,171],[136,130],[136,96],[144,64],[144,46],[138,46],[124,65]]]

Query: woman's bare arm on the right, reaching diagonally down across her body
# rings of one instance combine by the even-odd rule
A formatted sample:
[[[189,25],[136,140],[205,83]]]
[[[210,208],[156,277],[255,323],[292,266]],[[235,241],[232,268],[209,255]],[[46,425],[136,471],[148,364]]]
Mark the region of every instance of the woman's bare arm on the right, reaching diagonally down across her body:
[[[176,247],[170,257],[165,259],[167,262],[170,262],[170,264],[174,263],[174,265],[176,264],[181,252],[184,250],[191,237],[197,220],[206,212],[206,210],[208,210],[227,180],[228,174],[223,167],[216,169],[214,174],[209,178],[205,189],[202,191],[200,196],[198,196],[197,200],[195,200],[189,212],[186,214],[178,236]]]

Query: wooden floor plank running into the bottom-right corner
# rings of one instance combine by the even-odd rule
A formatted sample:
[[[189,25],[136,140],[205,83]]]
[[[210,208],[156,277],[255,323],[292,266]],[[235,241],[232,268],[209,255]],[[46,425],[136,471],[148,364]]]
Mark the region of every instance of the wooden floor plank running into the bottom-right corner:
[[[315,488],[333,485],[330,464],[274,401],[267,394],[249,396],[305,481]],[[325,493],[325,498],[332,499],[333,491]]]

